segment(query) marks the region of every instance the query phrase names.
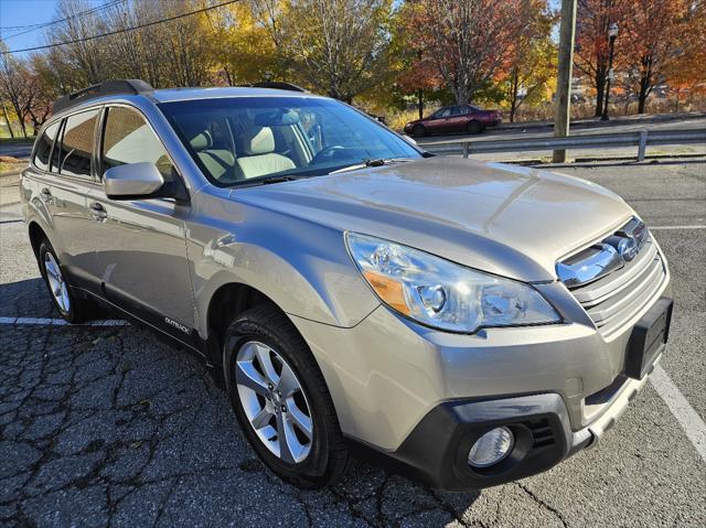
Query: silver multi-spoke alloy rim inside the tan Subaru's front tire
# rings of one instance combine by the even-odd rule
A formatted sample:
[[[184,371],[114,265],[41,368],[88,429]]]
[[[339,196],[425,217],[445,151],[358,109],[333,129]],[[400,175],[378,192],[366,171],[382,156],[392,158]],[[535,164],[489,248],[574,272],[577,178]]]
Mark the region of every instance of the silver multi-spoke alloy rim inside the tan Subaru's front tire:
[[[240,346],[235,382],[245,416],[259,440],[281,461],[296,464],[311,452],[313,421],[303,387],[270,346]]]

